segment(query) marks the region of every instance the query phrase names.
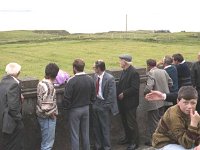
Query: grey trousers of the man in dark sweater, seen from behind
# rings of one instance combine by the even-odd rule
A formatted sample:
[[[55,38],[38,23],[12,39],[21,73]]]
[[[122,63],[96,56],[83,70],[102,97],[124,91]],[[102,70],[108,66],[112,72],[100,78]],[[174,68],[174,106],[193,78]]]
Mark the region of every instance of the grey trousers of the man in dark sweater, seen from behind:
[[[70,109],[69,130],[71,150],[79,150],[79,130],[82,139],[82,150],[90,150],[89,106]]]

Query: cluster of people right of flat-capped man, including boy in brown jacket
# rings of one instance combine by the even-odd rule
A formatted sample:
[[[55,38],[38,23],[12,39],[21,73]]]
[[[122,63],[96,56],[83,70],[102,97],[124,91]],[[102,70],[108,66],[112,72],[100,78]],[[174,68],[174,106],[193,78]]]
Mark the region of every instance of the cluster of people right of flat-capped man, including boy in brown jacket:
[[[147,60],[148,141],[161,150],[200,149],[200,53],[191,70],[181,54]],[[197,110],[197,111],[196,111]]]

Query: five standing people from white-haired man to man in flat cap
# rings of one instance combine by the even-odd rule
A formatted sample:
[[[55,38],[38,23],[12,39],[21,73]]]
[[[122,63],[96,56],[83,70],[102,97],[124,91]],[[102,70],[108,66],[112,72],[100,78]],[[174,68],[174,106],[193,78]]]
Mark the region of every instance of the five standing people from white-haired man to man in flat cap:
[[[90,149],[89,119],[92,118],[95,137],[95,150],[111,150],[110,113],[121,113],[125,136],[119,144],[128,143],[127,150],[139,146],[136,109],[139,105],[140,77],[132,66],[130,55],[119,56],[123,68],[118,88],[114,77],[106,72],[103,60],[94,62],[94,76],[84,72],[85,62],[75,59],[72,66],[74,75],[65,83],[63,107],[68,110],[68,123],[71,149],[79,150],[80,139],[82,149]],[[45,67],[44,79],[37,86],[36,114],[41,129],[41,150],[53,148],[58,108],[56,104],[56,90],[59,67],[49,63]],[[3,137],[4,150],[23,150],[24,133],[22,122],[21,84],[18,76],[21,66],[9,63],[6,75],[0,82],[0,129]],[[59,83],[60,84],[60,83]],[[92,117],[90,112],[92,107]],[[79,138],[79,135],[82,137]]]

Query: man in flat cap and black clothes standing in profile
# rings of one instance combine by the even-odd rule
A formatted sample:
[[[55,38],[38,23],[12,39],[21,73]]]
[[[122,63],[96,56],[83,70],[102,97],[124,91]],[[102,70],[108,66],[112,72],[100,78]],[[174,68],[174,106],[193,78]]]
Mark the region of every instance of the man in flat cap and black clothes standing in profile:
[[[132,66],[132,57],[130,55],[120,55],[119,59],[123,71],[117,86],[117,98],[125,131],[125,137],[119,140],[119,144],[128,143],[127,150],[134,150],[139,145],[136,111],[139,105],[140,77]]]

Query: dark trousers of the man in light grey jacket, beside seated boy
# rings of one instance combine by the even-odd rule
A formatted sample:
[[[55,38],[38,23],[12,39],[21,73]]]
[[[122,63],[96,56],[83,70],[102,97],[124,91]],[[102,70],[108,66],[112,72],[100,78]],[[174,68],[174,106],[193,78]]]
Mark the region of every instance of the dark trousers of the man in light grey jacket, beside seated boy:
[[[147,115],[148,115],[147,138],[148,138],[148,142],[150,143],[151,143],[152,135],[158,126],[158,122],[164,114],[164,110],[165,108],[161,107],[156,110],[147,111]]]

